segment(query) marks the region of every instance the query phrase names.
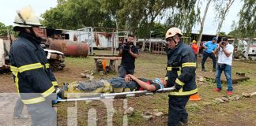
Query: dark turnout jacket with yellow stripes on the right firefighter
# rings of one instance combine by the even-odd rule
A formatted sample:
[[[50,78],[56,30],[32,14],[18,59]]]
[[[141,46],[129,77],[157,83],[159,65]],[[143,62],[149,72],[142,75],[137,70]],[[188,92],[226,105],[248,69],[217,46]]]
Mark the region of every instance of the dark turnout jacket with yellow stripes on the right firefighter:
[[[184,96],[197,93],[195,55],[191,47],[179,42],[174,49],[167,50],[167,54],[168,66],[165,80],[168,87],[175,86],[177,89],[170,95]]]

